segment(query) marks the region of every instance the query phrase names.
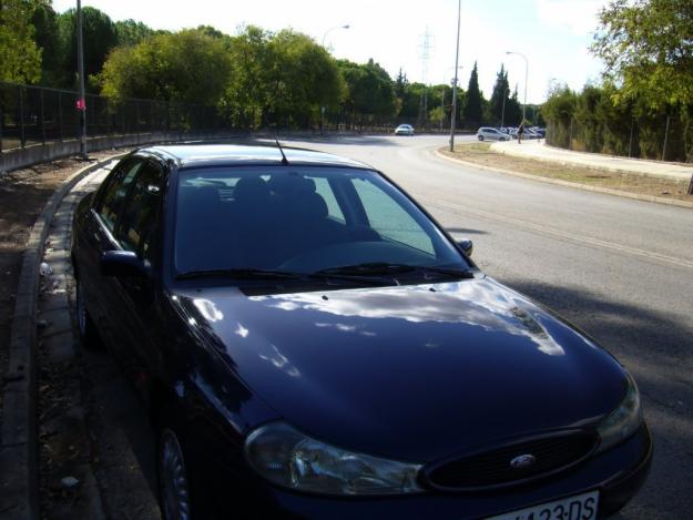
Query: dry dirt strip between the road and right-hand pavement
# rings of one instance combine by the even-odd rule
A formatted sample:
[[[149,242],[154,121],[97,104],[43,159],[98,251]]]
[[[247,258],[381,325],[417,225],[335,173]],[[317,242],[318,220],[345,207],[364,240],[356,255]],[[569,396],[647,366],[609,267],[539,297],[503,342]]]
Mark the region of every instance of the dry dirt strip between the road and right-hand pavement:
[[[676,198],[693,202],[693,195],[686,195],[687,182],[676,182],[664,179],[628,175],[603,170],[592,170],[579,166],[564,166],[531,159],[512,157],[492,152],[488,143],[458,144],[455,152],[441,149],[440,152],[450,157],[460,159],[489,167],[510,170],[531,175],[560,179],[580,184],[620,190],[623,192],[654,195],[664,198]]]

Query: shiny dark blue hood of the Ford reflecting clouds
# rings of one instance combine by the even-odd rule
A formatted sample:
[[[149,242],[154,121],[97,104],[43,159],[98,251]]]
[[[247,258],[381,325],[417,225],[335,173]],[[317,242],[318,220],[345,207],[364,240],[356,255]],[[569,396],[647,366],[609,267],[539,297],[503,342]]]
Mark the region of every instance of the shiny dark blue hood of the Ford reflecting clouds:
[[[430,461],[582,426],[623,396],[611,355],[490,278],[177,296],[188,322],[285,420],[374,455]]]

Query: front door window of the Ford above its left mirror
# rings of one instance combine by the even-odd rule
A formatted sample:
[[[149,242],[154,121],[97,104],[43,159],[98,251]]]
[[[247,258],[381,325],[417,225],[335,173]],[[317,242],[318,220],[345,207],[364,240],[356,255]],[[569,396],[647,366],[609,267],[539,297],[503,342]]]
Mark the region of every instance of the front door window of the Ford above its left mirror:
[[[115,238],[126,251],[151,258],[161,202],[163,173],[152,162],[139,171],[118,222]]]

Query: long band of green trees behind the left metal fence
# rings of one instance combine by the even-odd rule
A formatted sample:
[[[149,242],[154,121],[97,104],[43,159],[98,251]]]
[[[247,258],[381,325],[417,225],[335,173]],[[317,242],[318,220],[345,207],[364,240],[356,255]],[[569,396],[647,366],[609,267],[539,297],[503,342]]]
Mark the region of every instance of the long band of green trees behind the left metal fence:
[[[0,82],[77,90],[77,13],[57,13],[50,0],[3,0],[0,9]],[[310,37],[241,27],[225,34],[210,26],[177,32],[136,20],[112,21],[84,7],[86,90],[114,103],[126,99],[194,103],[216,108],[233,128],[327,125],[360,130],[410,123],[420,130],[449,128],[450,84],[391,78],[377,61],[336,60]],[[468,89],[458,90],[457,121],[519,124],[517,86],[501,67],[489,100],[479,89],[478,68]],[[529,112],[539,119],[537,108]]]

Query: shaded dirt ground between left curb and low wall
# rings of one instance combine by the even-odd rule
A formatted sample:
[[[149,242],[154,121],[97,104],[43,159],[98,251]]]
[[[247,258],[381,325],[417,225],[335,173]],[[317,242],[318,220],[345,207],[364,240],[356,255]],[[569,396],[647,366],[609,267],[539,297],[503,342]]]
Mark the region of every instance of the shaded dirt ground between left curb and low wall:
[[[95,152],[90,159],[112,154],[113,151]],[[88,164],[77,159],[63,159],[0,174],[0,375],[4,375],[7,368],[14,294],[31,227],[62,182]],[[1,410],[2,391],[0,414]]]

